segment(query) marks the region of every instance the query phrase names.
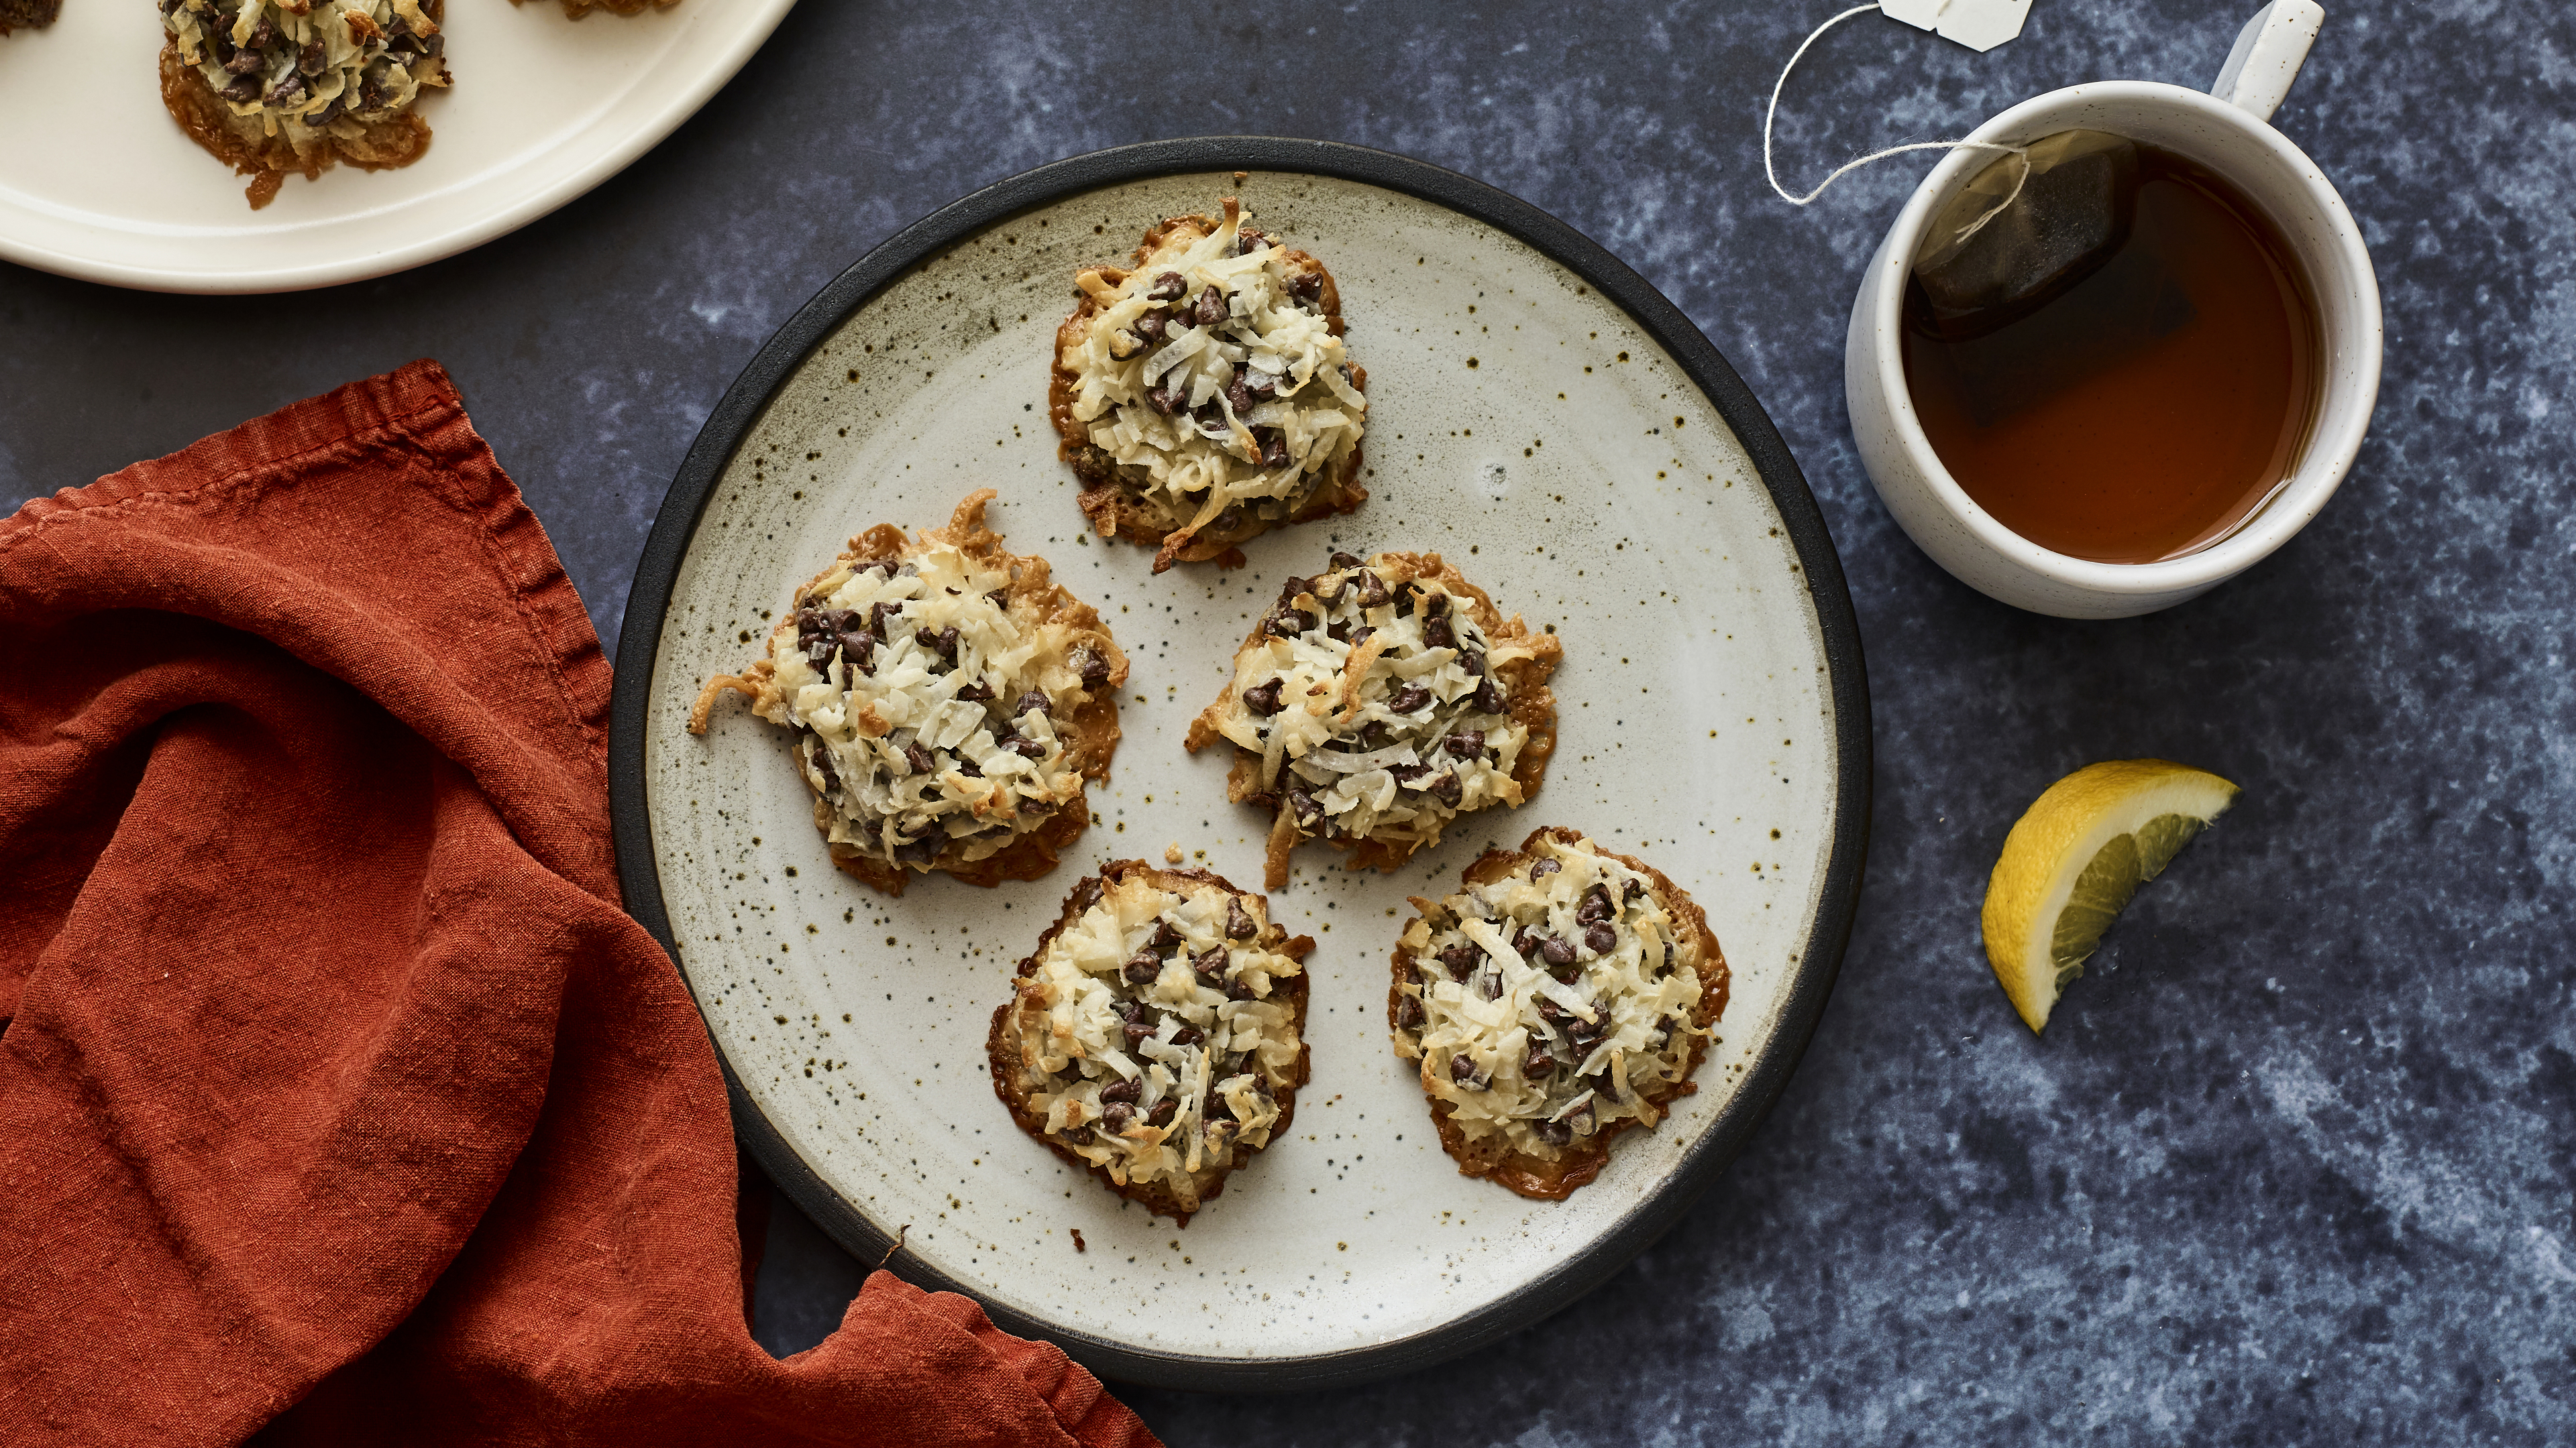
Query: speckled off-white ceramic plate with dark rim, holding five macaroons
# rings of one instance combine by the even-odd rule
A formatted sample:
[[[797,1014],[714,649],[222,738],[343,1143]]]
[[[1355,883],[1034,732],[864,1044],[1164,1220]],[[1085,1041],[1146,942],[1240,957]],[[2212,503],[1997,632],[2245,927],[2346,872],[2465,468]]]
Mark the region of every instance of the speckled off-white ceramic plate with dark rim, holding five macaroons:
[[[1249,173],[1236,183],[1229,173]],[[1154,577],[1103,544],[1046,425],[1079,263],[1242,193],[1321,258],[1368,366],[1365,508],[1257,538],[1236,572]],[[1092,600],[1133,662],[1095,824],[1036,884],[837,873],[786,734],[742,709],[696,739],[701,680],[878,520],[974,487]],[[1190,1226],[1025,1139],[984,1033],[1061,897],[1180,845],[1257,884],[1265,819],[1224,799],[1188,719],[1291,572],[1437,549],[1566,644],[1561,747],[1520,812],[1463,819],[1401,873],[1301,855],[1273,915],[1311,933],[1314,1080],[1296,1129]],[[672,946],[770,1175],[866,1260],[976,1296],[1092,1368],[1195,1389],[1355,1381],[1538,1322],[1669,1226],[1780,1092],[1842,956],[1868,819],[1868,701],[1842,569],[1777,433],[1636,273],[1473,180],[1355,147],[1162,142],[1059,162],[902,232],[824,289],[708,420],[654,523],[618,654],[613,788],[629,907]],[[1489,845],[1589,830],[1708,910],[1734,1000],[1700,1092],[1620,1139],[1566,1203],[1461,1177],[1388,1046],[1406,894]],[[1082,1234],[1082,1247],[1074,1242]]]

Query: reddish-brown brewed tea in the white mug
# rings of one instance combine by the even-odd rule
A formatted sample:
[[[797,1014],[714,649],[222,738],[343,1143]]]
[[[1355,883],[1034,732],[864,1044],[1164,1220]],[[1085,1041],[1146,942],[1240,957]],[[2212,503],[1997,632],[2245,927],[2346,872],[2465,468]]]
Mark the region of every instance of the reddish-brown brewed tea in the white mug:
[[[1904,371],[1978,508],[2043,549],[2141,564],[2226,538],[2290,479],[2324,356],[2280,229],[2208,167],[2123,147],[2102,180],[2117,237],[1991,314],[1937,307],[1917,273]]]

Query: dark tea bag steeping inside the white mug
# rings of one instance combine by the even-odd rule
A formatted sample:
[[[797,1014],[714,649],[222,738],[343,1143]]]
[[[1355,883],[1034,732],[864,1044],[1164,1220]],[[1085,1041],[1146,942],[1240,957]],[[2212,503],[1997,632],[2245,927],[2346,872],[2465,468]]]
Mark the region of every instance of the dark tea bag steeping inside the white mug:
[[[2138,147],[2058,131],[1978,170],[1914,255],[1922,319],[1945,340],[2017,322],[2102,271],[2138,214]]]

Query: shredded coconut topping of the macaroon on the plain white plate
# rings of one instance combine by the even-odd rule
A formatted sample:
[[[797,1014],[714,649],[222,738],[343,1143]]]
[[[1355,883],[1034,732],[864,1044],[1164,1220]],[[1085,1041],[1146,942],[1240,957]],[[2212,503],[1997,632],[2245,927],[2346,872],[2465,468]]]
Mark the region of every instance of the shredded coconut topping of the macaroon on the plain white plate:
[[[446,36],[420,0],[160,0],[178,57],[234,116],[358,137],[446,85]]]

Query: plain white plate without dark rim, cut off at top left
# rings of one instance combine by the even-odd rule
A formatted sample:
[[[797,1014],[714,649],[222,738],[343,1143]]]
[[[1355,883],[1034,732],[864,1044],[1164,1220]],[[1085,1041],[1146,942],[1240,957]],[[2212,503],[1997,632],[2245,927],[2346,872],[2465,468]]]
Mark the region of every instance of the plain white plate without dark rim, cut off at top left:
[[[456,88],[402,170],[247,178],[160,100],[149,0],[64,0],[0,39],[0,258],[149,291],[296,291],[433,263],[526,227],[649,152],[742,70],[796,0],[683,0],[567,21],[554,0],[453,0]],[[44,144],[77,137],[77,144]]]

